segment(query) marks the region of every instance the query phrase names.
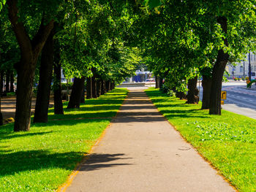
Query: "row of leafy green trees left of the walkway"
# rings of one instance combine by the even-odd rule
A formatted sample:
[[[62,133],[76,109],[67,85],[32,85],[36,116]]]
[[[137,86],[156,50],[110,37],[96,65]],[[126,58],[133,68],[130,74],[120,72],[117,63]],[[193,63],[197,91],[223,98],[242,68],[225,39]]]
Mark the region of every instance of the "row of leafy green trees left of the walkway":
[[[14,131],[29,130],[35,82],[34,123],[47,122],[52,80],[54,112],[64,113],[61,69],[75,77],[68,108],[78,108],[85,82],[87,99],[96,98],[134,74],[140,61],[138,48],[124,45],[132,25],[126,2],[1,0],[0,8],[1,66],[17,72]]]

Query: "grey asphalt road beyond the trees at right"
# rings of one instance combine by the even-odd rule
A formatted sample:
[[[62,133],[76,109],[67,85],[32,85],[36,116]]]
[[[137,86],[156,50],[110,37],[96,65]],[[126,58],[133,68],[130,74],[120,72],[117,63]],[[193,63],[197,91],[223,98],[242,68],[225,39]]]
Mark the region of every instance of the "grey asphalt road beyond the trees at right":
[[[256,119],[256,86],[252,88],[254,90],[246,89],[245,82],[224,82],[222,91],[227,91],[227,99],[222,108]],[[202,97],[203,88],[200,86],[200,100]]]

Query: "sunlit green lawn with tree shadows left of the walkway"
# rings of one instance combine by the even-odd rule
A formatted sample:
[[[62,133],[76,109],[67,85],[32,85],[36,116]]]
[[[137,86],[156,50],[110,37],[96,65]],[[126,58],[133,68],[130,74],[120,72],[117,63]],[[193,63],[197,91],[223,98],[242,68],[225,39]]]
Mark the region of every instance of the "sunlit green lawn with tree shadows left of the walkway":
[[[31,131],[14,133],[0,127],[0,191],[54,191],[88,153],[121,106],[127,90],[117,88],[81,108],[53,115]],[[64,104],[67,106],[67,103]],[[67,120],[71,118],[99,118]],[[103,118],[102,118],[103,117]]]

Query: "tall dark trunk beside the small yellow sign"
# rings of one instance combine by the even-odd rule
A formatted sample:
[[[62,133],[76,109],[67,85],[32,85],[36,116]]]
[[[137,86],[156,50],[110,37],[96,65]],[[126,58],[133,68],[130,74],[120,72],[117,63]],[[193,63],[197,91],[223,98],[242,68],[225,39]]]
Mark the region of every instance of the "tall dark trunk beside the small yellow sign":
[[[219,17],[217,22],[221,25],[222,31],[227,34],[227,18]],[[223,39],[228,47],[227,39]],[[211,78],[211,96],[210,96],[210,115],[221,115],[221,93],[222,93],[222,78],[227,65],[229,55],[223,50],[218,50],[217,61],[214,64]]]

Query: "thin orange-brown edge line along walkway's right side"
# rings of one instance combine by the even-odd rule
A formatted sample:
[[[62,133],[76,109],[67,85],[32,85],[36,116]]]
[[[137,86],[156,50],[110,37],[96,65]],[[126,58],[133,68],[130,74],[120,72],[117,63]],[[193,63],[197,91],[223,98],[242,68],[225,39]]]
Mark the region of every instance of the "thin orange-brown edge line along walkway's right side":
[[[144,91],[144,92],[146,93],[146,91]],[[148,96],[147,93],[146,93],[146,96]],[[230,187],[232,187],[235,191],[238,192],[238,189],[230,182],[230,180],[227,180],[227,178],[220,172],[220,170],[219,170],[217,167],[215,167],[215,166],[211,163],[211,161],[209,161],[206,157],[204,157],[201,153],[199,153],[199,151],[197,150],[197,148],[194,147],[194,145],[192,145],[192,143],[190,143],[190,142],[181,134],[180,131],[178,131],[178,129],[176,128],[176,126],[174,126],[173,123],[170,123],[170,121],[167,120],[167,118],[162,114],[162,112],[160,112],[160,111],[158,110],[157,106],[153,103],[153,101],[151,100],[151,98],[150,98],[149,96],[148,96],[148,99],[149,99],[149,101],[154,105],[154,107],[156,107],[157,111],[162,115],[162,117],[165,118],[165,120],[167,121],[167,123],[169,123],[170,126],[172,126],[176,132],[178,132],[178,134],[181,136],[181,138],[184,139],[184,141],[187,142],[189,145],[191,145],[191,147],[197,152],[197,154],[200,155],[200,157],[203,158],[203,160],[206,161],[207,164],[209,164],[209,165],[211,166],[211,168],[213,168],[214,170],[216,170],[216,171],[217,171],[217,174],[219,174],[219,176],[221,176],[222,179],[223,179],[226,183],[228,183],[228,184],[230,185]]]

